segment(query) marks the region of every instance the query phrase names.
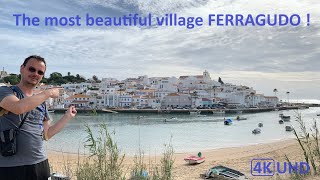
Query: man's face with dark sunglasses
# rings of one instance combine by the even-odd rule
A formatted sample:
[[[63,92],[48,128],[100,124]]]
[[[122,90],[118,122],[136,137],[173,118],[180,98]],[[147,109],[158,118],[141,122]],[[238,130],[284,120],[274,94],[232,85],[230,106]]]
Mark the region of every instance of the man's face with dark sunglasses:
[[[21,65],[21,80],[24,83],[36,86],[44,76],[46,66],[42,61],[30,59],[26,66]]]

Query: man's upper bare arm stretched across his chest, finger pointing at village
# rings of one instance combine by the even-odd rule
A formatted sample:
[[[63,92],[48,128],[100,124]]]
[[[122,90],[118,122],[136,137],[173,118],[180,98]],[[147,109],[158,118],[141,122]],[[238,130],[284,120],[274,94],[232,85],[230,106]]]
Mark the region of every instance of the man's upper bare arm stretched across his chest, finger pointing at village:
[[[25,97],[23,99],[19,99],[14,95],[7,96],[0,102],[0,107],[14,114],[23,114],[36,108],[48,98],[59,97],[60,89],[62,88],[47,89],[37,95]]]

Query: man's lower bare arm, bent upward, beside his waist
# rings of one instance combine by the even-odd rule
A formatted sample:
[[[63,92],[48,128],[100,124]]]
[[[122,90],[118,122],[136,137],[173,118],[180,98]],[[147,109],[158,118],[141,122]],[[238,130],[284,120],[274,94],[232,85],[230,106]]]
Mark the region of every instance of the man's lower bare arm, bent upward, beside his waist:
[[[50,126],[50,121],[43,122],[44,139],[48,140],[55,134],[60,132],[64,126],[77,114],[76,108],[70,106],[67,112],[62,116],[62,118],[56,122],[54,125]]]

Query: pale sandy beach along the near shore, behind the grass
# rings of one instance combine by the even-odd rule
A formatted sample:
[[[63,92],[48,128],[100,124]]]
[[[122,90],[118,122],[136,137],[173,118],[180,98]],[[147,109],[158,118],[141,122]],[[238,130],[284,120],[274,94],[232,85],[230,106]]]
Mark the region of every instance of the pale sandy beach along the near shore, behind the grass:
[[[259,177],[252,176],[250,173],[250,161],[253,158],[272,158],[276,162],[286,162],[285,155],[292,162],[305,161],[302,150],[295,139],[280,140],[277,142],[249,145],[234,148],[222,148],[209,151],[203,151],[206,161],[198,165],[187,165],[183,160],[188,155],[196,155],[198,152],[176,153],[174,154],[174,178],[177,180],[200,179],[200,174],[204,173],[210,167],[216,165],[224,165],[243,172],[249,179],[276,179],[276,177]],[[75,168],[78,162],[77,154],[68,154],[62,152],[48,152],[49,162],[52,166],[52,172],[60,172],[67,174],[65,169]],[[80,157],[84,158],[83,156]],[[160,156],[144,157],[145,163],[150,164],[157,161],[160,162]],[[125,157],[124,165],[130,168],[133,165],[133,157]],[[68,168],[65,168],[68,167]],[[129,171],[128,171],[129,172]],[[281,179],[286,179],[283,175]]]

